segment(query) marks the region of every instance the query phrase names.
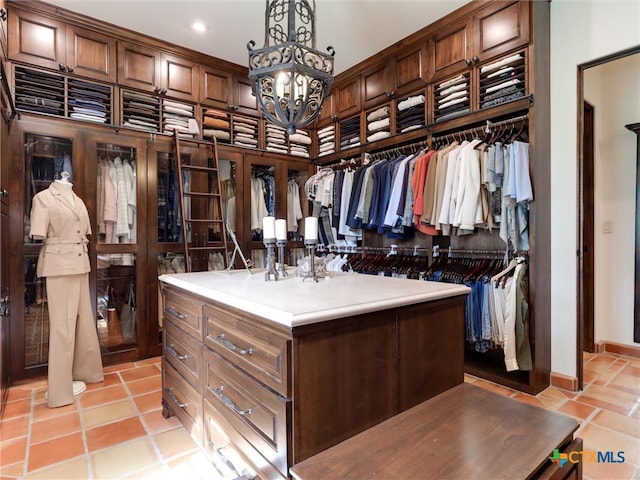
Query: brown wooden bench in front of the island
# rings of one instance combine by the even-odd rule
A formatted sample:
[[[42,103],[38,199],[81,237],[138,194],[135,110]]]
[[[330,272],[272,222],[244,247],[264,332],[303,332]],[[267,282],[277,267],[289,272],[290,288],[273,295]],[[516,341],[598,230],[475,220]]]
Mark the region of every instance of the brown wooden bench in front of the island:
[[[464,383],[290,469],[296,480],[580,479],[571,417]]]

